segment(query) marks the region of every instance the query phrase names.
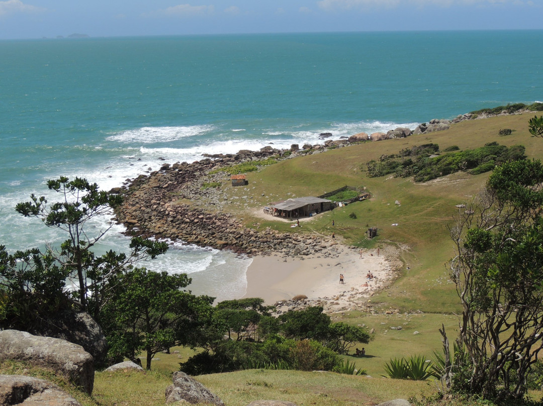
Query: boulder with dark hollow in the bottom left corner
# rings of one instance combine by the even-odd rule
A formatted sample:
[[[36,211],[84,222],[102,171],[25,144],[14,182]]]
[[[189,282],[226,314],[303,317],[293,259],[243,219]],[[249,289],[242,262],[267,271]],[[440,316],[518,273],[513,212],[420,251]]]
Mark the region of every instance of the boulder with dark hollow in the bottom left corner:
[[[22,375],[0,375],[0,404],[81,406],[55,384]]]

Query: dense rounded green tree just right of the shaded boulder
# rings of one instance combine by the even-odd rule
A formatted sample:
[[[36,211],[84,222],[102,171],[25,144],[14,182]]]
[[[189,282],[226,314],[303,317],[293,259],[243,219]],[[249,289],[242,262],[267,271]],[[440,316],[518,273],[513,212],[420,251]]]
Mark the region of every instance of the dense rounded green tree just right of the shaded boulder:
[[[114,299],[104,308],[112,316],[109,331],[119,356],[136,360],[147,352],[146,369],[157,352],[194,344],[194,335],[212,311],[214,298],[181,290],[190,284],[186,274],[135,268],[119,277]]]

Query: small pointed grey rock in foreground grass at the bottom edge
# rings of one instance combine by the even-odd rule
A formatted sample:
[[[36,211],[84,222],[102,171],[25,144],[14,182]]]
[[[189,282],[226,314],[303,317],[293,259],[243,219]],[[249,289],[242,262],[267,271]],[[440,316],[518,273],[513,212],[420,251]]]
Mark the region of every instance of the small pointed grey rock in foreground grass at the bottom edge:
[[[224,406],[217,395],[185,372],[174,372],[173,385],[166,388],[166,403],[185,401],[188,403],[211,403]]]

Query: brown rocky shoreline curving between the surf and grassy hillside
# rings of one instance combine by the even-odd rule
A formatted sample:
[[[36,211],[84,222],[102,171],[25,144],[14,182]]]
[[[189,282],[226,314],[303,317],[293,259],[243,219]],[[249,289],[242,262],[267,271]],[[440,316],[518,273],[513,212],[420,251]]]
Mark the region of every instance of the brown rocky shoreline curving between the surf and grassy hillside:
[[[469,115],[459,116],[456,121],[468,118]],[[332,242],[328,238],[280,233],[269,228],[256,231],[244,227],[234,215],[221,210],[230,203],[230,198],[219,188],[204,187],[204,182],[228,181],[228,174],[216,170],[232,164],[320,154],[367,139],[382,141],[426,131],[445,130],[450,124],[449,120],[431,120],[430,124],[421,124],[413,131],[397,128],[386,134],[368,136],[361,133],[349,138],[326,139],[323,144],[303,145],[301,149],[296,144],[289,150],[274,149],[267,145],[260,151],[241,150],[237,154],[207,155],[192,163],[165,163],[157,171],[127,180],[122,187],[112,189],[111,192],[124,196],[123,205],[115,211],[116,221],[127,228],[125,233],[129,236],[165,238],[247,255],[279,253],[293,257],[320,253],[333,257],[334,250],[329,249]],[[321,134],[321,138],[329,136],[332,134]]]

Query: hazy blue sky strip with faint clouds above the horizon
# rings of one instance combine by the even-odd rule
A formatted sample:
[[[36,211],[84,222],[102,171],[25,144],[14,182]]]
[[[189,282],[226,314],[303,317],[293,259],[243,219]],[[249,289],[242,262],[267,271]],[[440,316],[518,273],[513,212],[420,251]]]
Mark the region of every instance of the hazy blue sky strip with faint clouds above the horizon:
[[[543,29],[543,0],[0,0],[0,39]]]

